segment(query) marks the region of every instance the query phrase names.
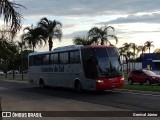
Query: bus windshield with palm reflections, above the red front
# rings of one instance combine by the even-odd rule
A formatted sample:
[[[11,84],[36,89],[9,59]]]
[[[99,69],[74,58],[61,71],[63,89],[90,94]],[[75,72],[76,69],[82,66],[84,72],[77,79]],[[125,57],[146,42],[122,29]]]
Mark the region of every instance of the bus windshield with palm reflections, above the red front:
[[[115,48],[95,49],[98,60],[98,77],[115,77],[122,75],[119,54]]]

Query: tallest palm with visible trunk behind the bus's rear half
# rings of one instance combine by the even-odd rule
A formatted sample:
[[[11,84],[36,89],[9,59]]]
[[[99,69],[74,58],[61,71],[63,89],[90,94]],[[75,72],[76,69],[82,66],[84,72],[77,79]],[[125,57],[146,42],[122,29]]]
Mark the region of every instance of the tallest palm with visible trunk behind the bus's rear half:
[[[40,27],[43,30],[42,36],[45,39],[48,39],[49,51],[51,51],[53,47],[52,39],[58,39],[59,41],[61,41],[62,24],[56,20],[51,21],[48,20],[47,18],[42,18],[38,23],[38,27]]]

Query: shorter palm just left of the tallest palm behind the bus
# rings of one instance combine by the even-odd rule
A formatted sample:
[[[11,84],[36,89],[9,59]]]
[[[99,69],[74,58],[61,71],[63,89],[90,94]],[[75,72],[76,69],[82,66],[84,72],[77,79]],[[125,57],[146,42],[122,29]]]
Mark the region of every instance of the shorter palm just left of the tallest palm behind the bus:
[[[24,33],[22,35],[22,40],[24,40],[30,48],[34,49],[36,48],[36,45],[39,45],[41,47],[43,45],[43,36],[41,35],[43,32],[40,28],[33,28],[26,27],[24,31],[27,30],[27,33]],[[45,41],[44,41],[45,42]]]

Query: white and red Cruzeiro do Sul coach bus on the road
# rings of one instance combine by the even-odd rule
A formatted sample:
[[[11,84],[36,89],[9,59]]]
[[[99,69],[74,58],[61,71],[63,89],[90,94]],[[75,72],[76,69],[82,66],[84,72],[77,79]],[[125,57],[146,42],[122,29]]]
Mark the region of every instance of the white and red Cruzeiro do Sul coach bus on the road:
[[[28,56],[29,82],[74,88],[77,91],[104,91],[124,86],[120,55],[116,47],[70,45]]]

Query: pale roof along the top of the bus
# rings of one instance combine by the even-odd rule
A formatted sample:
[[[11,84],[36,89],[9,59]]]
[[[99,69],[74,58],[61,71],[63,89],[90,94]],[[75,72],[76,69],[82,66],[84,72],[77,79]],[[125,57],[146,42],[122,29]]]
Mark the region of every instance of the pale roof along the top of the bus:
[[[69,45],[69,46],[63,46],[53,49],[52,51],[47,52],[34,52],[30,53],[31,55],[38,55],[38,54],[47,54],[47,53],[55,53],[55,52],[64,52],[64,51],[70,51],[70,50],[78,50],[78,49],[85,49],[85,48],[106,48],[106,47],[115,47],[115,46],[106,46],[106,45]]]

